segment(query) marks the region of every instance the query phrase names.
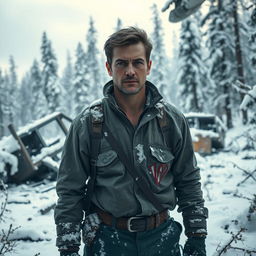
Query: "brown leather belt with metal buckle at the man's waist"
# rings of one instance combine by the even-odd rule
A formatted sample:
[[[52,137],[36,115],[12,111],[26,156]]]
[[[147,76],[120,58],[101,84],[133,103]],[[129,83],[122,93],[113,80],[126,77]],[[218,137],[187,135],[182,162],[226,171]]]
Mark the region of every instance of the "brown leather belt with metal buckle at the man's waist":
[[[168,219],[168,210],[151,216],[134,216],[115,218],[111,214],[97,208],[96,213],[102,222],[108,226],[114,226],[118,229],[128,230],[130,232],[142,232],[154,229]]]

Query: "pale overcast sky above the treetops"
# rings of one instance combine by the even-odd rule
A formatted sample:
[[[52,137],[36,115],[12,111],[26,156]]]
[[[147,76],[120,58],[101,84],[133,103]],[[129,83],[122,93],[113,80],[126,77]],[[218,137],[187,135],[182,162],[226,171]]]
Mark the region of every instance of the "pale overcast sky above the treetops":
[[[89,17],[95,20],[98,47],[101,51],[106,38],[114,31],[117,18],[124,26],[137,25],[149,34],[152,31],[152,11],[159,10],[167,0],[0,0],[0,68],[7,69],[13,55],[19,79],[28,71],[34,58],[40,60],[43,31],[52,41],[60,65],[66,62],[67,50],[74,60],[78,42],[85,46]],[[168,22],[168,12],[160,13],[167,52],[171,55],[174,30],[179,25]],[[169,48],[170,47],[170,48]]]

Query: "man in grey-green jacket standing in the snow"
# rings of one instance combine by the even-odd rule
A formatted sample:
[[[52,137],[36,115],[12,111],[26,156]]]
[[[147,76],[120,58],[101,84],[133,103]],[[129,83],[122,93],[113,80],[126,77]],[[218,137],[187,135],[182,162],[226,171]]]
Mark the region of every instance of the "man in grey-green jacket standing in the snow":
[[[74,120],[59,169],[55,222],[60,255],[78,255],[82,229],[86,256],[179,256],[182,227],[169,216],[176,203],[188,236],[184,255],[206,255],[207,209],[189,128],[146,80],[152,45],[143,30],[129,27],[111,35],[104,49],[113,80],[105,85],[104,98]],[[95,119],[103,135],[92,161]],[[90,210],[81,224],[93,168]]]

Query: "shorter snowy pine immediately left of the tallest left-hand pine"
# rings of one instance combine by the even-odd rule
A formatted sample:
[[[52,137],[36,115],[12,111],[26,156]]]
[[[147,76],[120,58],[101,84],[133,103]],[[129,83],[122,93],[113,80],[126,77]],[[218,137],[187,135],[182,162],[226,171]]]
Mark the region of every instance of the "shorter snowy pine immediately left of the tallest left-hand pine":
[[[32,92],[31,102],[33,106],[31,116],[33,120],[36,120],[45,116],[48,112],[48,103],[44,95],[42,74],[37,60],[34,60],[30,68],[29,83]]]

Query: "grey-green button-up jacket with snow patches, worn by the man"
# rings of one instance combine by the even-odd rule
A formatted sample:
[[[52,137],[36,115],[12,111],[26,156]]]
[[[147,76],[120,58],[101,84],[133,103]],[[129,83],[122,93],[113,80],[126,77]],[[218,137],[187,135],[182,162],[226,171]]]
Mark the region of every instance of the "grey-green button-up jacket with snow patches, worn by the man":
[[[107,83],[102,100],[104,123],[113,131],[134,168],[138,168],[147,179],[164,208],[173,210],[178,204],[178,211],[183,213],[185,233],[206,233],[207,211],[186,119],[175,107],[162,100],[153,84],[147,81],[146,88],[144,112],[134,127],[115,102],[112,81]],[[157,118],[162,116],[161,106],[171,123],[167,142]],[[83,219],[83,197],[90,172],[89,114],[85,109],[73,121],[63,150],[56,186],[59,199],[55,208],[57,246],[60,248],[80,245],[80,235],[75,234],[79,232],[77,227]],[[114,217],[150,216],[158,212],[144,198],[104,136],[96,165],[92,202],[97,207]],[[195,222],[194,219],[201,221]],[[67,224],[70,228],[63,228]]]

